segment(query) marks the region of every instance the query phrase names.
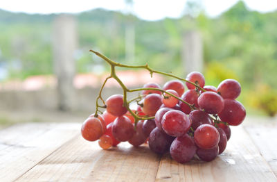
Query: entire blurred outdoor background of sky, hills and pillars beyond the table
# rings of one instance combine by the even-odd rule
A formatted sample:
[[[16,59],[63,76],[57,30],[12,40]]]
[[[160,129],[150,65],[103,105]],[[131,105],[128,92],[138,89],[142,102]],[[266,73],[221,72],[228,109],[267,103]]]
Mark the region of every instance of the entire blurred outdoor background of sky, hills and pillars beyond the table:
[[[253,118],[277,113],[277,1],[1,1],[0,124],[82,122],[109,65],[143,65],[206,85],[234,78]],[[129,88],[168,77],[118,69]],[[122,93],[114,81],[104,98]],[[130,95],[129,97],[132,97]]]

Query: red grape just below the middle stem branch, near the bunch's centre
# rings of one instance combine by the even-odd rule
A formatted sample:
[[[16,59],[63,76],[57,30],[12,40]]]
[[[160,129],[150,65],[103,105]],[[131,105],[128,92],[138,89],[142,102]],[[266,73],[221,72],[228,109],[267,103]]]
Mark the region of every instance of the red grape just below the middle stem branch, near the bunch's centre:
[[[143,100],[143,113],[145,115],[154,116],[161,106],[161,95],[148,94]]]

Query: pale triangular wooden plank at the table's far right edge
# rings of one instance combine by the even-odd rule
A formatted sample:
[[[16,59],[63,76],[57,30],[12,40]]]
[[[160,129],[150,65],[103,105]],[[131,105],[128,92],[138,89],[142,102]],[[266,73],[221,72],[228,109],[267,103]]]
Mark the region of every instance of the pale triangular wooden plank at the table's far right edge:
[[[244,128],[277,176],[277,124],[256,124],[244,126]]]

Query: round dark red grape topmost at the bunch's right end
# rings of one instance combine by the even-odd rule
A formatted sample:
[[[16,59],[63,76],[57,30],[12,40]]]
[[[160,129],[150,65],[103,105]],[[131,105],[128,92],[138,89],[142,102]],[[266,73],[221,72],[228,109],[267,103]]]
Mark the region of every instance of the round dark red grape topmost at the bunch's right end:
[[[240,83],[233,79],[226,79],[217,87],[217,92],[223,99],[236,99],[240,95]]]

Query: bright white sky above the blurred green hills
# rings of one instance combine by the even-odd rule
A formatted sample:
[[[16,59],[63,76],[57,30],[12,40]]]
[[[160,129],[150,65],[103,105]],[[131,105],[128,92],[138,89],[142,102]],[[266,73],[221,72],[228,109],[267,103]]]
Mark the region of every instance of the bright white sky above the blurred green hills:
[[[180,17],[187,0],[134,0],[133,13],[141,19]],[[202,0],[204,10],[216,17],[239,0]],[[244,0],[250,10],[262,13],[277,9],[277,0]],[[93,8],[126,11],[125,0],[1,0],[0,9],[24,13],[80,13]]]

